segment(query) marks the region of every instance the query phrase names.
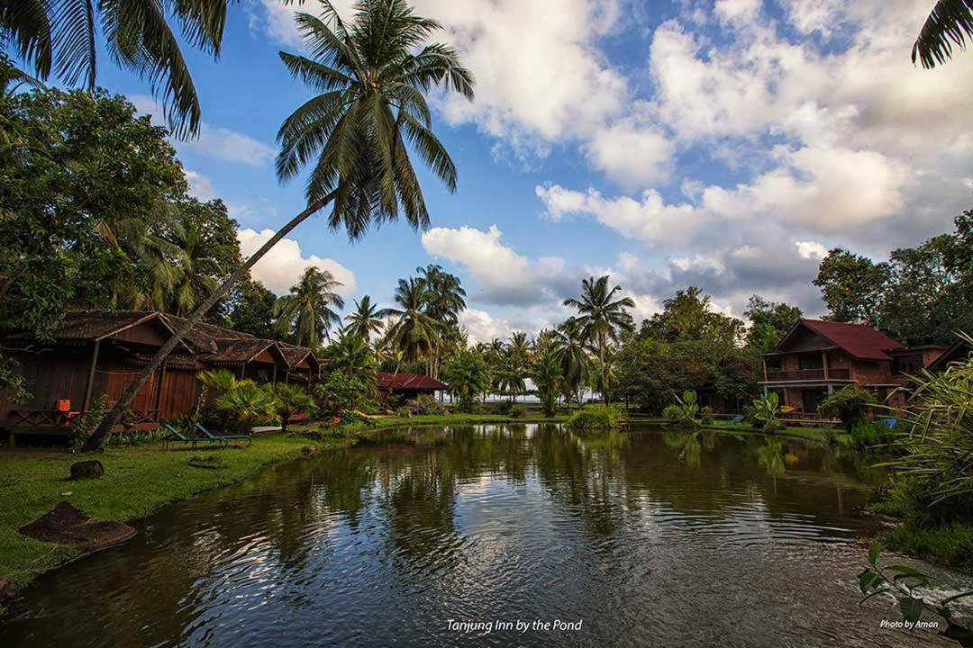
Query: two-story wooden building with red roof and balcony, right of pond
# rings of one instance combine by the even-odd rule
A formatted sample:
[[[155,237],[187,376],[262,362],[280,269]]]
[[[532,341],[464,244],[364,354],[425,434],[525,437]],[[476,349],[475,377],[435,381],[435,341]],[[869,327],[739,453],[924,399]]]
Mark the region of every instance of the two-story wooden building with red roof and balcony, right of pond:
[[[862,324],[800,320],[764,355],[764,392],[777,392],[798,416],[813,416],[829,393],[859,385],[880,401],[905,387],[904,374],[917,373],[942,354],[941,347],[906,349],[882,331]],[[918,369],[917,369],[918,367]],[[890,406],[904,404],[894,393]]]

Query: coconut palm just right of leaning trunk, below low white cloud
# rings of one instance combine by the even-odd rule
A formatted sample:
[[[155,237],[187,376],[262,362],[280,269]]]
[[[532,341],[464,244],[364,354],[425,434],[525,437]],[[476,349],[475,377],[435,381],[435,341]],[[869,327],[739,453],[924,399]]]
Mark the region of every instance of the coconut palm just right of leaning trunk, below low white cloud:
[[[342,285],[327,270],[309,266],[291,293],[278,297],[273,305],[274,331],[316,349],[322,340],[330,339],[331,326],[342,323],[342,316],[331,308],[344,308],[342,295],[335,292]]]

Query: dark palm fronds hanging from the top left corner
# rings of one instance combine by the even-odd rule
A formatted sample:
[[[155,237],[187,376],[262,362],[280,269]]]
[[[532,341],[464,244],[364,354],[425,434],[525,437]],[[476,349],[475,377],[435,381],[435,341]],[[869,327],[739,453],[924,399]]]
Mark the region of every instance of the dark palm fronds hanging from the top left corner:
[[[10,43],[34,75],[52,73],[67,85],[93,89],[98,32],[120,66],[148,78],[162,95],[165,116],[179,135],[199,128],[199,97],[180,38],[217,58],[227,18],[227,0],[0,0],[0,38]],[[100,27],[100,30],[99,30]]]

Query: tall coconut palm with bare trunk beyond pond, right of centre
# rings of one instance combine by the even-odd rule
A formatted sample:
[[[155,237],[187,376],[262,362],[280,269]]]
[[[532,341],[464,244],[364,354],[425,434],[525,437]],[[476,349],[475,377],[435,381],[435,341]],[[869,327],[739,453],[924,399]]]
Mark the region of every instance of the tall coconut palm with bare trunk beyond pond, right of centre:
[[[635,324],[631,321],[628,309],[635,307],[631,297],[614,299],[620,286],[608,290],[610,277],[604,275],[595,280],[589,277],[581,282],[581,299],[565,299],[564,305],[578,311],[574,318],[585,338],[595,344],[598,350],[598,369],[601,396],[608,404],[608,370],[606,366],[609,340],[618,341],[621,332],[631,332]]]

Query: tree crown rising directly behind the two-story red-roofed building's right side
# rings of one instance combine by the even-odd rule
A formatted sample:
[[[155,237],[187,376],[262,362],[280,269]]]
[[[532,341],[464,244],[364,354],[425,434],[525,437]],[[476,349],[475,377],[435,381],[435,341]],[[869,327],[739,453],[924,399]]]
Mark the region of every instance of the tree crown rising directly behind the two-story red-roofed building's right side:
[[[835,322],[879,326],[888,266],[835,248],[821,260],[813,284]]]

